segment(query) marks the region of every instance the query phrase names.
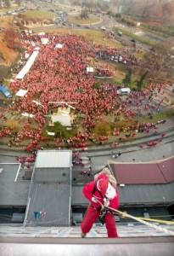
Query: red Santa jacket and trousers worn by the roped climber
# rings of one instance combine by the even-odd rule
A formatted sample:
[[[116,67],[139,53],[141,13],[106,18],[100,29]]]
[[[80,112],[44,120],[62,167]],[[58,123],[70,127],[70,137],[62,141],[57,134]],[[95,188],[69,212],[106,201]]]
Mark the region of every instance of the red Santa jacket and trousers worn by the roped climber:
[[[98,179],[100,178],[108,178],[106,175],[101,174],[99,175]],[[112,190],[112,199],[106,199],[106,194],[107,194],[107,189]],[[110,183],[108,183],[107,188],[105,191],[103,191],[103,195],[101,191],[98,190],[96,186],[96,182],[90,182],[87,183],[84,188],[83,188],[83,194],[87,198],[88,201],[90,201],[90,205],[87,208],[87,212],[85,213],[85,216],[83,218],[83,221],[81,223],[81,231],[82,233],[88,233],[91,228],[93,227],[93,224],[95,223],[96,219],[98,218],[100,211],[101,211],[101,205],[99,204],[102,203],[103,205],[106,205],[107,200],[107,206],[112,207],[117,209],[119,207],[119,197],[118,197],[118,192],[117,190],[111,186]],[[114,197],[113,197],[113,192],[114,192]],[[99,202],[94,202],[93,198],[97,198]],[[108,237],[118,237],[117,231],[116,231],[116,226],[115,226],[115,217],[112,212],[107,212],[105,214],[105,226],[108,232]]]

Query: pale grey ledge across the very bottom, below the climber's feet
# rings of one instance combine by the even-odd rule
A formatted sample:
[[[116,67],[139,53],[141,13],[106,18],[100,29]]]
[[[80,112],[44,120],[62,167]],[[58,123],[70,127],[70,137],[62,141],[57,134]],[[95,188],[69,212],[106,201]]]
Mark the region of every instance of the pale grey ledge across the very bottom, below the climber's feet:
[[[95,245],[95,246],[94,246]],[[174,237],[0,238],[1,256],[173,256]]]

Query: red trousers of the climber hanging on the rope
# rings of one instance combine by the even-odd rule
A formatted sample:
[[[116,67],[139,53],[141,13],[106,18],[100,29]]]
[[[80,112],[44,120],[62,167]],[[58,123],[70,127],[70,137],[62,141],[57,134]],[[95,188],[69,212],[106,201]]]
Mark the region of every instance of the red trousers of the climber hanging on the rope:
[[[93,224],[95,223],[96,219],[99,216],[99,210],[95,207],[89,206],[87,208],[87,212],[81,223],[81,231],[83,233],[88,233]],[[105,226],[108,232],[108,237],[118,237],[115,225],[115,217],[111,212],[107,212],[105,215]]]

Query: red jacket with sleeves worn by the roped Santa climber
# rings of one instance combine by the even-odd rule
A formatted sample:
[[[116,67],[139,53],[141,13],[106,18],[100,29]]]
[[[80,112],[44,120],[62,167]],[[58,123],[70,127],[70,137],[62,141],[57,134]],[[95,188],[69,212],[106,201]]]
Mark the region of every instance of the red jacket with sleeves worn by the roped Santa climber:
[[[97,202],[93,202],[92,201],[92,197],[95,196],[98,201],[100,201],[102,204],[104,204],[104,197],[101,195],[101,193],[98,191],[98,189],[94,189],[96,188],[96,182],[90,182],[87,183],[84,188],[83,188],[83,195],[85,195],[85,197],[87,198],[88,201],[91,202],[91,205],[93,207],[100,207],[100,204]],[[95,190],[95,192],[93,193],[93,191]],[[117,209],[119,207],[119,195],[118,195],[118,190],[116,190],[116,195],[113,199],[109,200],[109,207],[115,208]]]

